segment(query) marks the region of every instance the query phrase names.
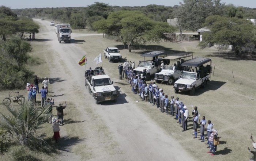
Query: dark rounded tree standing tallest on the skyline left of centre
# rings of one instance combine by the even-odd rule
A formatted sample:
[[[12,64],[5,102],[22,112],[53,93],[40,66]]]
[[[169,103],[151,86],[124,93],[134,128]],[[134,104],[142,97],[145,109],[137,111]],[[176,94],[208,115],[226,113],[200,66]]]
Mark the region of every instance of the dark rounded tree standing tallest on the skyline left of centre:
[[[92,5],[87,5],[86,8],[86,15],[88,17],[102,16],[107,19],[110,12],[112,12],[112,6],[106,3],[94,2]]]

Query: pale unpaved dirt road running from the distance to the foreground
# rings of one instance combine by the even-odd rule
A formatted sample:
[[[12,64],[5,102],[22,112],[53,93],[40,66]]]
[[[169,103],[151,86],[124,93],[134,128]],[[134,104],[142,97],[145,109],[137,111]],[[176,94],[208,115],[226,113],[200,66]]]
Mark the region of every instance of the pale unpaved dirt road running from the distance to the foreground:
[[[81,130],[84,130],[84,133],[90,138],[84,140],[93,153],[93,158],[90,160],[193,161],[192,157],[182,149],[176,140],[159,128],[136,104],[129,103],[129,94],[131,93],[124,97],[124,94],[120,91],[120,99],[116,104],[100,103],[96,105],[93,97],[84,86],[84,67],[78,65],[78,61],[83,55],[89,55],[90,53],[82,51],[79,44],[74,43],[75,41],[72,41],[73,43],[71,44],[59,44],[54,27],[50,26],[48,21],[38,19],[35,19],[35,21],[45,26],[44,30],[38,35],[49,41],[42,42],[42,45],[47,43],[54,50],[52,57],[48,58],[51,59],[48,62],[50,77],[60,78],[61,81],[52,85],[52,91],[54,95],[64,94],[56,97],[56,100],[73,101],[76,108],[84,116],[80,119],[86,120],[82,123],[84,127],[81,127]],[[81,36],[81,34],[71,34],[71,38],[75,39],[77,36]],[[76,42],[86,43],[82,40]],[[105,49],[105,46],[102,46],[102,49]],[[96,64],[93,60],[87,59],[86,68],[89,66],[95,68]],[[105,71],[108,73],[108,69],[105,69]],[[115,81],[116,79],[112,78],[112,80]],[[93,127],[93,120],[89,121],[85,118],[85,116],[90,115],[86,112],[86,108],[91,108],[108,127],[107,131],[113,136],[113,141],[117,142],[117,145],[113,147],[113,152],[108,152],[107,141],[104,142],[102,138],[97,138],[98,135],[94,130],[85,128]],[[89,126],[90,124],[92,126]],[[65,134],[64,126],[61,135]],[[81,160],[81,158],[71,152],[67,152],[63,154],[61,160]]]

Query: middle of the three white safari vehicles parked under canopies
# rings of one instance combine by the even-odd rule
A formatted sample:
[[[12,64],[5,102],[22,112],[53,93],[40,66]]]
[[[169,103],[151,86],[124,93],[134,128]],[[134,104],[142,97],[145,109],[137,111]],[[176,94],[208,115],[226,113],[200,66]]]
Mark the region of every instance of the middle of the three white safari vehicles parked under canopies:
[[[183,62],[185,62],[186,60],[184,60],[182,58],[188,58],[188,57],[193,58],[193,54],[192,53],[179,53],[179,54],[173,54],[171,56],[162,58],[163,60],[172,61],[172,60],[178,59],[179,61],[177,61],[173,65],[166,64],[163,66],[161,72],[155,73],[154,80],[156,81],[156,83],[161,83],[162,81],[164,81],[164,82],[167,82],[168,85],[173,84],[174,81],[180,77],[181,72],[183,70],[183,66],[181,66],[181,64]]]

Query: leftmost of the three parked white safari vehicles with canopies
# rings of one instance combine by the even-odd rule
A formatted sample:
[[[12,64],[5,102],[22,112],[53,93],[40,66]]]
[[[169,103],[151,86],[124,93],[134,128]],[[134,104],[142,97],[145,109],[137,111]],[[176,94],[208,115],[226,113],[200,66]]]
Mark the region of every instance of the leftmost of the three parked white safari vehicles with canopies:
[[[139,61],[138,67],[133,69],[133,71],[136,73],[136,75],[140,75],[143,70],[146,69],[146,81],[148,81],[150,80],[151,76],[153,76],[155,73],[160,72],[161,70],[160,61],[162,60],[162,58],[158,57],[166,57],[167,53],[165,51],[152,51],[142,54],[140,56],[144,57],[144,61]],[[150,60],[145,60],[145,57],[149,58]]]

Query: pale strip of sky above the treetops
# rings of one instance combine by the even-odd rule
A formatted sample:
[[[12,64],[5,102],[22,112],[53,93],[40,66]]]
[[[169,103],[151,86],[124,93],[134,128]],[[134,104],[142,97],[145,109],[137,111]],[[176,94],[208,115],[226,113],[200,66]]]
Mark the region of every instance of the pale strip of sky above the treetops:
[[[16,8],[45,8],[45,7],[86,7],[95,1],[117,6],[146,6],[149,4],[174,6],[182,0],[1,0],[0,5]],[[256,8],[255,0],[221,0],[226,4]]]

